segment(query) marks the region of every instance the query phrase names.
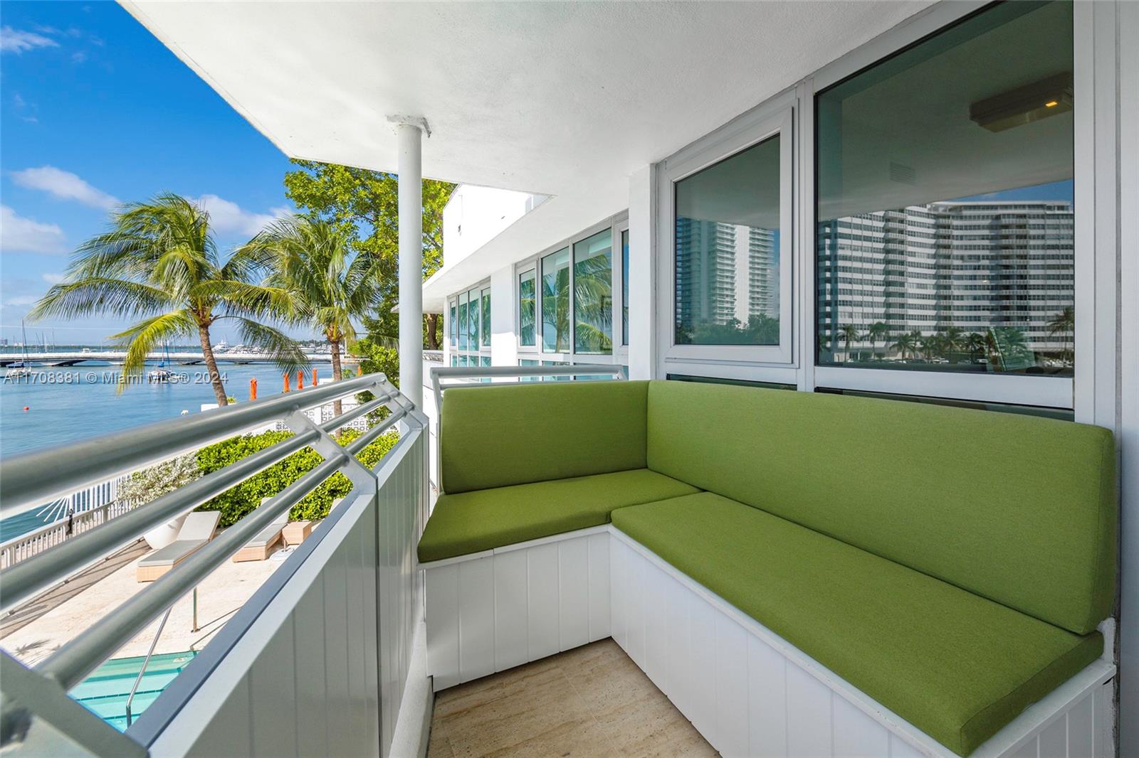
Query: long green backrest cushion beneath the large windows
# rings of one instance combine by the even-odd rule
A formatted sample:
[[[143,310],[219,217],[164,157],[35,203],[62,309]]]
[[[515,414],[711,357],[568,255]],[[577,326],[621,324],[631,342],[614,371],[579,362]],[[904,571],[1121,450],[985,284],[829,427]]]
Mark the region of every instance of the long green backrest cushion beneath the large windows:
[[[1077,634],[1115,594],[1115,451],[1054,419],[653,381],[648,467]]]

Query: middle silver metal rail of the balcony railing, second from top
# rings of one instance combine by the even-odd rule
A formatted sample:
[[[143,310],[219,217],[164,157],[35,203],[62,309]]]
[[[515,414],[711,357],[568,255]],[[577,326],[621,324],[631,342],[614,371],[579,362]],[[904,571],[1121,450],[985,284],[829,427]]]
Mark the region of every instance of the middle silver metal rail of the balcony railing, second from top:
[[[372,387],[377,387],[377,374],[371,376]],[[380,380],[383,376],[379,374]],[[353,412],[367,413],[392,403],[396,397],[392,393],[382,393],[377,399],[366,403]],[[363,410],[368,409],[368,410]],[[399,406],[398,413],[405,413]],[[0,611],[18,605],[28,598],[47,590],[59,579],[82,570],[97,562],[104,555],[123,547],[150,529],[188,513],[195,508],[207,503],[215,496],[228,491],[233,485],[263,471],[273,463],[285,460],[293,453],[309,447],[321,439],[321,432],[328,434],[349,423],[352,414],[345,413],[320,425],[316,429],[300,431],[288,439],[257,451],[239,461],[207,473],[204,477],[162,495],[161,497],[133,509],[97,529],[85,532],[73,539],[56,545],[49,551],[34,555],[26,561],[0,571]],[[169,422],[167,422],[169,423]],[[222,438],[239,434],[240,428],[231,430]],[[355,440],[353,440],[355,442]],[[75,446],[71,446],[75,447]],[[71,447],[64,447],[67,451]],[[259,509],[260,510],[260,509]]]

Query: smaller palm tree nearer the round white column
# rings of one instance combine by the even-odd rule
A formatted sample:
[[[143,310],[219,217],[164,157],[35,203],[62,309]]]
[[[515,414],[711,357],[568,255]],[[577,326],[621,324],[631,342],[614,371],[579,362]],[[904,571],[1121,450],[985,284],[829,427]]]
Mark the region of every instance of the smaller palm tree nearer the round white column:
[[[333,379],[339,381],[341,351],[357,339],[353,321],[363,319],[379,298],[375,261],[353,256],[333,224],[305,216],[270,224],[248,247],[272,261],[265,283],[290,295],[290,320],[317,328],[328,343]],[[341,401],[333,406],[339,415]]]

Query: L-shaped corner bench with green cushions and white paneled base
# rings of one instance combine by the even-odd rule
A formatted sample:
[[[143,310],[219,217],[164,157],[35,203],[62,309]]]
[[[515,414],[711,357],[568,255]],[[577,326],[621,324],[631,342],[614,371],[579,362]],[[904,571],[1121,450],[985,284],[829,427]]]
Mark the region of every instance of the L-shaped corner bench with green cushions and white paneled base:
[[[1105,429],[544,382],[449,389],[440,445],[436,690],[612,636],[726,756],[1111,750]]]

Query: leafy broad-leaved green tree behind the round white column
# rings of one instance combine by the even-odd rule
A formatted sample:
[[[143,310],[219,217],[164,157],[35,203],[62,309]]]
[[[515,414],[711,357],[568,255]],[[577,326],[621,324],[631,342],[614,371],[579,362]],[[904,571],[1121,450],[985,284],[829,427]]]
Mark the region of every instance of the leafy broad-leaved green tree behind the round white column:
[[[366,322],[370,335],[395,339],[399,320],[399,191],[395,174],[314,160],[294,160],[285,174],[285,192],[309,216],[339,231],[357,254],[376,262],[379,298]],[[424,278],[443,263],[443,206],[454,184],[424,180]],[[425,347],[439,349],[439,315],[426,318]]]

